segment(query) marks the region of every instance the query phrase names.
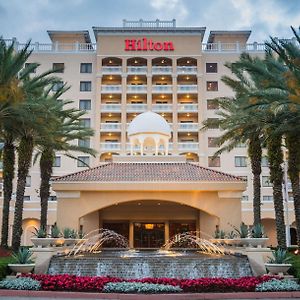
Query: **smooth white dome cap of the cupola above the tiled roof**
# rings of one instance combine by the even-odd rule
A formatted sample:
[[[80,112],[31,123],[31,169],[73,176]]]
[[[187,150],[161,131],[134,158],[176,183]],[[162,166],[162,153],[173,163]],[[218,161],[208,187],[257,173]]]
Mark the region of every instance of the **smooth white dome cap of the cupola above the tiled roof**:
[[[128,136],[139,133],[158,133],[171,137],[168,122],[159,114],[152,111],[136,116],[128,126]]]

